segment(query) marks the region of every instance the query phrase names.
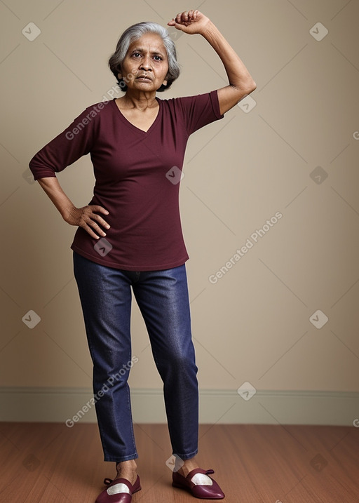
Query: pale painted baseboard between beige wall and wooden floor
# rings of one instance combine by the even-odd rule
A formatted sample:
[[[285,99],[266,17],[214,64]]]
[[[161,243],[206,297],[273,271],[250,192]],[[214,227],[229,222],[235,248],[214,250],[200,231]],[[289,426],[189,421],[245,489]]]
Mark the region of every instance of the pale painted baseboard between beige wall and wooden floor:
[[[0,421],[96,422],[91,398],[84,388],[2,387]],[[131,404],[134,422],[166,422],[162,389],[131,389]],[[200,390],[200,423],[359,426],[359,393],[257,390],[245,400],[233,390]]]

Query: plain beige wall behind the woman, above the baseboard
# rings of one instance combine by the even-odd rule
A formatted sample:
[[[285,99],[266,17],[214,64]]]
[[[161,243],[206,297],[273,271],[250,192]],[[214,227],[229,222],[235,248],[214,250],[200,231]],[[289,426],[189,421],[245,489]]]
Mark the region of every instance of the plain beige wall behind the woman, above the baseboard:
[[[165,26],[191,7],[0,4],[2,387],[91,386],[69,250],[75,229],[23,175],[43,145],[114,86],[107,59],[123,29],[142,20]],[[359,391],[358,1],[205,0],[200,10],[257,83],[255,107],[246,113],[240,102],[194,133],[184,162],[200,387],[236,391],[248,381],[257,390]],[[41,29],[34,41],[22,34],[29,22]],[[310,32],[317,22],[329,30],[321,41]],[[312,32],[318,38],[323,28]],[[226,85],[222,62],[201,36],[181,34],[176,43],[182,74],[159,98]],[[327,174],[323,182],[313,180],[315,169]],[[58,178],[76,205],[90,201],[89,156]],[[255,242],[277,212],[282,217]],[[248,252],[211,282],[248,239]],[[22,322],[30,309],[41,318],[32,329]],[[310,321],[318,309],[329,318],[323,328]],[[132,389],[161,389],[135,304],[133,354]]]

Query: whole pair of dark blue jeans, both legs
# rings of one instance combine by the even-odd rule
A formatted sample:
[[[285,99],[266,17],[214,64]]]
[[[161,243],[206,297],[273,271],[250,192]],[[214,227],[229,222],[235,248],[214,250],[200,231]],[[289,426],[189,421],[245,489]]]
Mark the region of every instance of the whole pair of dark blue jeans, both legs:
[[[161,271],[123,271],[74,252],[74,274],[93,361],[93,392],[104,461],[138,457],[127,382],[133,366],[131,287],[163,381],[172,454],[182,460],[194,457],[198,452],[198,368],[185,264]]]

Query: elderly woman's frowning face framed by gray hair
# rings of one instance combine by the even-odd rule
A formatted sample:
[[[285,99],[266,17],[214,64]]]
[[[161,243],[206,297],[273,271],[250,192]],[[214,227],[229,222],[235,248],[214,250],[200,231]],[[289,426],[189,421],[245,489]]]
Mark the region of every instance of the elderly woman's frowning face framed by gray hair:
[[[168,58],[161,36],[147,33],[131,43],[121,70],[129,89],[156,91],[166,84]]]

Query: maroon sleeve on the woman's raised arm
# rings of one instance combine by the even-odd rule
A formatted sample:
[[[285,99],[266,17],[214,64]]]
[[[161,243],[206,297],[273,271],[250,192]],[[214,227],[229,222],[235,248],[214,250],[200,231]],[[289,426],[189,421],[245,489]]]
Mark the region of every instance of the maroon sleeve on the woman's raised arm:
[[[178,100],[178,105],[184,116],[188,135],[224,117],[219,111],[217,89],[210,91],[210,93],[184,96],[176,98],[176,100]]]

